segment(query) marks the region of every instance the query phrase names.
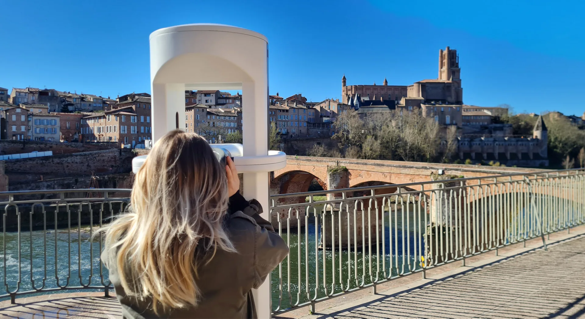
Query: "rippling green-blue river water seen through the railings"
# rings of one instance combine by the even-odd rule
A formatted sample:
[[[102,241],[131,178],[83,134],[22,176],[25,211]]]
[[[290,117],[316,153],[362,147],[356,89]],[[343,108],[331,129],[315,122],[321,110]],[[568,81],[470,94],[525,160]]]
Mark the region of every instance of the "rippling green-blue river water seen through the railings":
[[[305,227],[288,232],[284,229],[282,236],[289,243],[290,255],[271,273],[273,310],[368,284],[377,276],[383,279],[384,276],[419,268],[415,259],[420,255],[415,255],[415,236],[412,234],[412,229],[418,229],[418,223],[415,224],[414,219],[411,214],[408,225],[411,232],[409,236],[404,234],[404,239],[402,218],[398,216],[392,221],[392,229],[391,221],[386,221],[384,250],[381,238],[378,249],[373,246],[371,251],[366,246],[350,251],[319,249],[321,224],[319,221],[315,224],[314,216],[308,218],[307,231]],[[6,254],[0,255],[0,265],[8,286],[2,294],[17,289],[29,291],[33,285],[34,289],[51,289],[109,284],[108,270],[99,260],[99,239],[90,241],[89,232],[78,232],[77,228],[70,231],[26,231],[20,236],[16,232],[7,232],[2,241],[6,245]],[[409,254],[403,260],[402,247],[408,245]],[[416,246],[419,246],[418,242]],[[376,266],[377,260],[379,267]],[[386,262],[386,275],[383,261]]]

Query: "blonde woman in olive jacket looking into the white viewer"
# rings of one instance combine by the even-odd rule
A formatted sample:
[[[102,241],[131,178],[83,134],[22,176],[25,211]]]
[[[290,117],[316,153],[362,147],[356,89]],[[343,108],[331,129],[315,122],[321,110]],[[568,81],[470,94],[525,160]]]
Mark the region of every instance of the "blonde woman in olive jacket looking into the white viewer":
[[[256,318],[252,289],[288,253],[205,139],[177,130],[136,174],[102,259],[125,318]]]

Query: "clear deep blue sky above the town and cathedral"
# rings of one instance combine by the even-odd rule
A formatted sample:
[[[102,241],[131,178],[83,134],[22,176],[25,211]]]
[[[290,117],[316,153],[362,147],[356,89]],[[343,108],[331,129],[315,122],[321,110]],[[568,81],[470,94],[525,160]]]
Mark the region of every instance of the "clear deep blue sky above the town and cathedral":
[[[98,4],[99,3],[99,4]],[[583,114],[585,1],[0,1],[0,87],[150,91],[150,32],[223,23],[270,43],[270,94],[339,98],[347,84],[436,78],[460,56],[467,104]]]

